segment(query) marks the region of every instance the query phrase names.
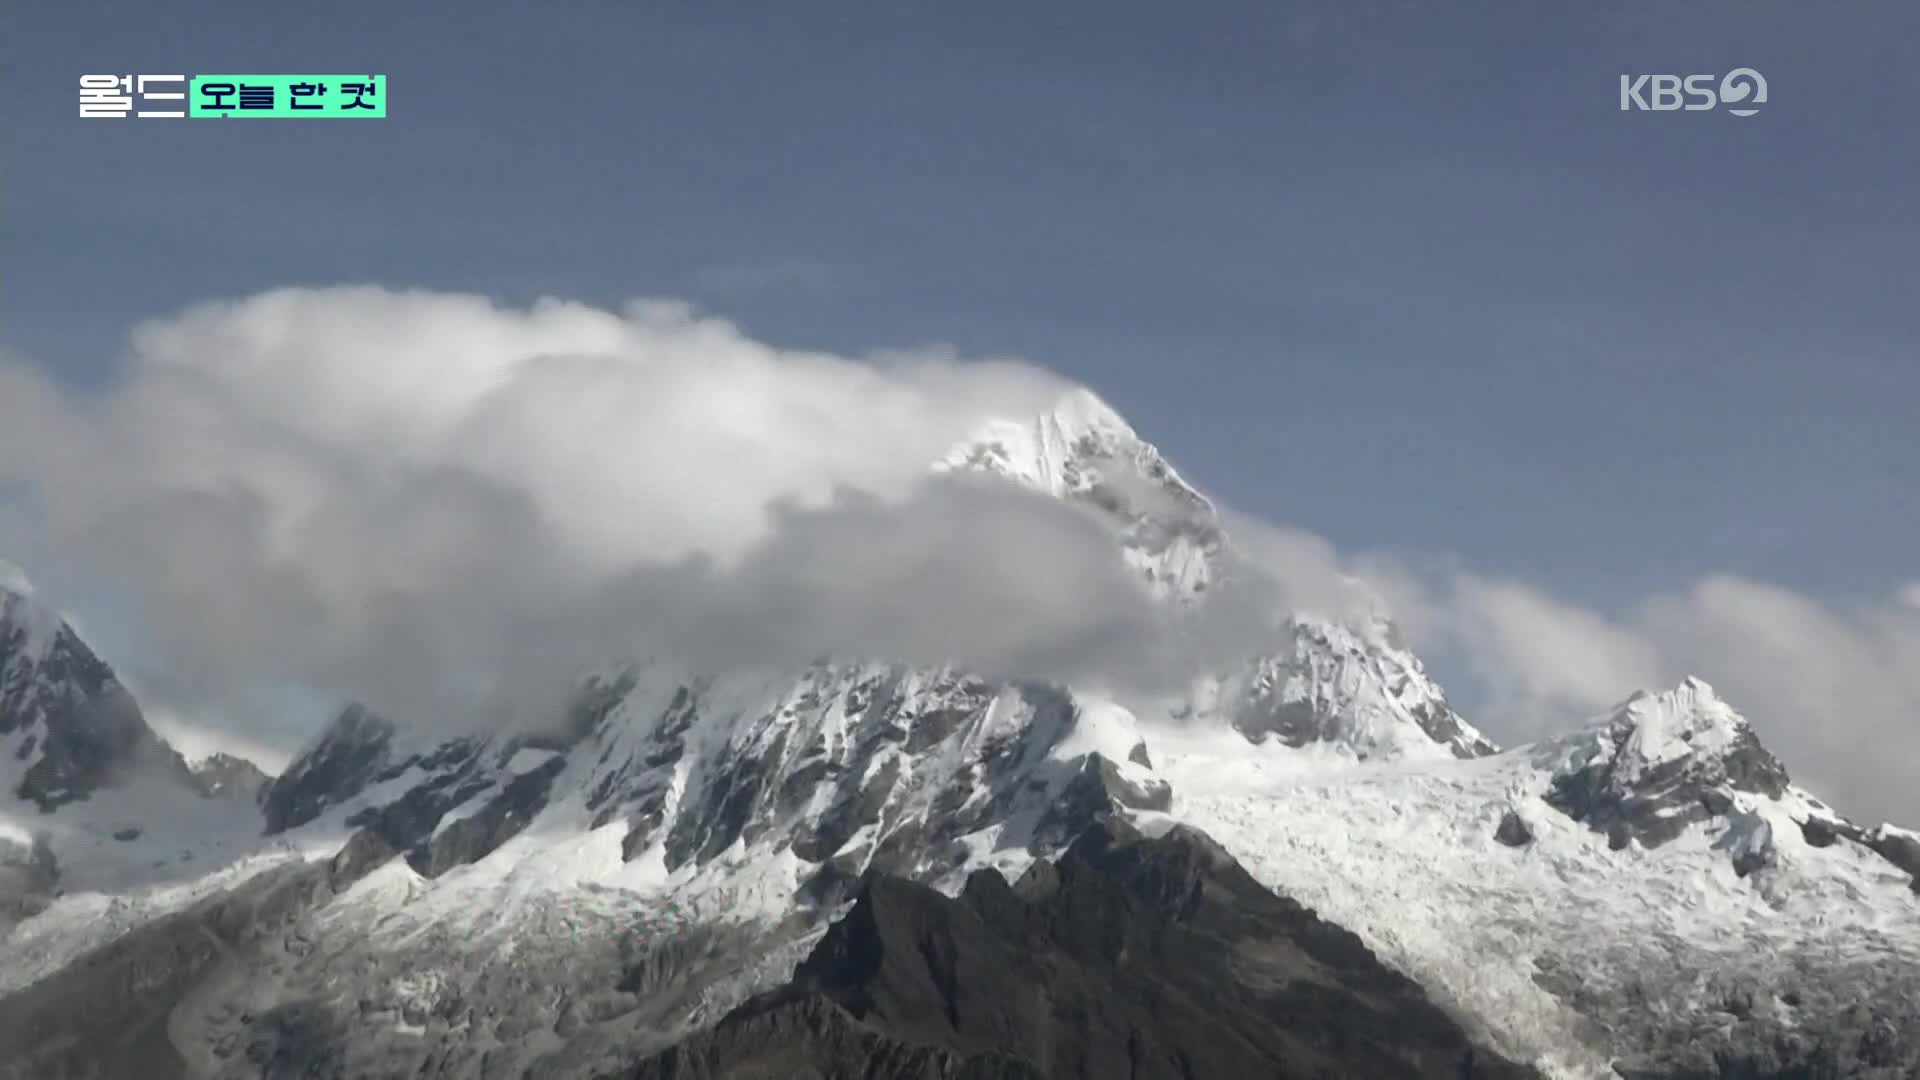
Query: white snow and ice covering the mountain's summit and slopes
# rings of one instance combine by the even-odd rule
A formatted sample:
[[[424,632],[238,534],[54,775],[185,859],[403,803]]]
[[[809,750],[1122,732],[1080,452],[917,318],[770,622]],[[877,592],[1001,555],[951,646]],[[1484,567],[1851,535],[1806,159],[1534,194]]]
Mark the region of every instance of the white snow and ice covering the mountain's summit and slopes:
[[[1092,394],[987,425],[941,467],[1096,509],[1162,596],[1192,601],[1229,580],[1212,503]],[[1379,611],[1275,626],[1250,642],[1258,659],[1244,669],[1171,700],[877,661],[632,665],[589,686],[564,746],[401,746],[415,736],[344,717],[269,792],[271,822],[292,832],[267,851],[236,847],[255,861],[334,859],[346,892],[301,926],[328,947],[300,959],[298,978],[351,988],[365,970],[420,963],[465,976],[440,986],[468,986],[518,953],[545,959],[516,967],[515,988],[549,980],[540,992],[564,997],[588,970],[607,986],[632,976],[603,970],[618,955],[609,944],[659,949],[636,967],[674,974],[695,967],[674,949],[708,949],[699,965],[735,949],[745,959],[697,1007],[724,1011],[783,978],[808,920],[862,872],[958,890],[981,867],[1018,876],[1096,815],[1187,822],[1484,1020],[1505,1049],[1567,1076],[1607,1074],[1613,1049],[1711,1026],[1686,995],[1649,1001],[1647,980],[1791,970],[1870,986],[1920,965],[1908,878],[1870,849],[1920,838],[1803,836],[1812,805],[1705,682],[1496,755]],[[503,801],[522,778],[528,792],[538,780],[538,799]],[[65,821],[146,821],[127,807]],[[394,857],[386,836],[413,846]],[[150,840],[171,857],[179,828],[157,824],[132,846]],[[246,865],[257,863],[236,857],[205,888]],[[63,897],[25,924],[8,961],[27,961],[0,984],[202,896],[98,867],[81,878],[125,896]],[[405,988],[386,995],[420,1026]],[[1809,997],[1805,1022],[1824,1007]],[[432,1038],[445,1028],[428,1022]]]

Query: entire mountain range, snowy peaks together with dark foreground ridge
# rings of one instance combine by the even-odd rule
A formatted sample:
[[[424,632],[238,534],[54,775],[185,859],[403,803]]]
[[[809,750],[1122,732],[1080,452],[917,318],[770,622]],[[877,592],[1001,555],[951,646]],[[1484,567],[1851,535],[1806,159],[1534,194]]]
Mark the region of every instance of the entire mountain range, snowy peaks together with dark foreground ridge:
[[[1173,615],[1236,582],[1212,503],[1089,396],[943,467],[1104,515]],[[255,811],[200,798],[244,790],[240,765],[163,792],[192,805],[117,798],[150,732],[88,719],[111,671],[38,615],[0,646],[0,769],[40,769],[0,807],[0,1036],[33,1032],[52,1074],[1425,1076],[1475,1047],[1507,1074],[1500,1045],[1563,1076],[1797,1076],[1828,1043],[1920,1053],[1880,1005],[1920,970],[1920,840],[1793,788],[1703,684],[1492,753],[1380,619],[1275,613],[1244,665],[1150,701],[860,659],[614,663],[540,736],[349,707]],[[81,751],[42,765],[60,732]],[[1196,836],[1121,826],[1169,819],[1430,1001]],[[248,899],[269,874],[298,903]],[[808,955],[791,994],[687,1042]]]

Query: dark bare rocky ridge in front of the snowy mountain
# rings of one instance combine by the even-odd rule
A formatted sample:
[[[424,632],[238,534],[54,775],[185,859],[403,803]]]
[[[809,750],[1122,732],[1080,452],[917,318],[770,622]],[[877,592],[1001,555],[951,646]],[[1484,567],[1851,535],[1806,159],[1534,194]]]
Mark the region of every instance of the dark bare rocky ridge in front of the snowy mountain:
[[[793,982],[626,1072],[655,1078],[1532,1076],[1206,836],[1100,824],[958,899],[891,876]]]

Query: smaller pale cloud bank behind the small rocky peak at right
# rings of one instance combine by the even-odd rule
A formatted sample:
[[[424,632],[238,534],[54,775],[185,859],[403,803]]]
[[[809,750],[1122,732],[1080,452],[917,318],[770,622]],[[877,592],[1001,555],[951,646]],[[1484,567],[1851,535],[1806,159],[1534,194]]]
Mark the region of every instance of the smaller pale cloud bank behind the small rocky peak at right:
[[[1473,657],[1498,736],[1538,738],[1699,675],[1812,790],[1920,821],[1920,609],[1905,592],[1841,607],[1718,575],[1617,619],[1471,575],[1452,598],[1436,626]]]

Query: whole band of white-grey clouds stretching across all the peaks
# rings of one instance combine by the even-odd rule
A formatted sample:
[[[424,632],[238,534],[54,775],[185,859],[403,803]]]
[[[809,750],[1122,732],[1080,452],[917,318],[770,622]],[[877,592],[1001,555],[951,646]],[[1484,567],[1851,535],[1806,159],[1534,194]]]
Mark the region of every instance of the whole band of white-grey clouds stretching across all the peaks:
[[[1275,601],[1386,605],[1505,742],[1695,673],[1841,805],[1920,819],[1920,582],[1839,607],[1715,577],[1609,615],[1229,515],[1279,592],[1219,590],[1175,640],[1073,507],[927,477],[1064,390],[678,304],[292,288],[136,329],[98,394],[0,356],[0,492],[134,598],[146,688],[188,717],[290,684],[474,723],[620,653],[1152,680],[1246,650]],[[248,717],[263,748],[305,734]]]

